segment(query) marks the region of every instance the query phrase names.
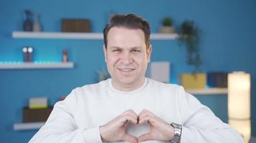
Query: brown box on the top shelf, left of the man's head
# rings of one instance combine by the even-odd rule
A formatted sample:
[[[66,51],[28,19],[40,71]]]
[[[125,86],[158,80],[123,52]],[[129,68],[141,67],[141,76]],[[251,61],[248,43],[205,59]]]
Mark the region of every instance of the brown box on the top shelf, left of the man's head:
[[[65,32],[90,32],[91,26],[88,19],[62,19],[61,31]]]

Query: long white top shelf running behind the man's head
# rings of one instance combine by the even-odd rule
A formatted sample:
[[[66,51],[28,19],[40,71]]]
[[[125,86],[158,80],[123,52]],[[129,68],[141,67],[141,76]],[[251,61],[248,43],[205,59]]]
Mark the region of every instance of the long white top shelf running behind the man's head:
[[[103,39],[102,33],[78,33],[78,32],[33,32],[33,31],[13,31],[13,38],[23,39]],[[177,39],[178,34],[151,34],[152,40]]]

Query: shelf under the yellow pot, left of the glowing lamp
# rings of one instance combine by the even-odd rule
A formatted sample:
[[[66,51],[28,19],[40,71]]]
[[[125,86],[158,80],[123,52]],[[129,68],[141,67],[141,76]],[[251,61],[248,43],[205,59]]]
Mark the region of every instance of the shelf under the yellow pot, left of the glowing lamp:
[[[209,88],[209,89],[186,89],[186,92],[194,95],[198,94],[227,94],[227,88]]]

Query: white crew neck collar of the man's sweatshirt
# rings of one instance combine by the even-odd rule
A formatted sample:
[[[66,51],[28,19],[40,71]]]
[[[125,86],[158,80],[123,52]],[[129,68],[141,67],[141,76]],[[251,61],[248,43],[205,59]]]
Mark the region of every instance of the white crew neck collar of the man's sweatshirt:
[[[147,78],[145,77],[144,83],[142,84],[141,87],[139,87],[138,89],[134,89],[132,91],[129,91],[129,92],[123,92],[123,91],[121,91],[119,89],[114,88],[114,86],[112,84],[112,79],[108,79],[108,84],[109,84],[109,88],[113,92],[116,92],[116,93],[119,93],[119,94],[134,94],[134,93],[142,91],[146,87],[146,85],[147,85]]]

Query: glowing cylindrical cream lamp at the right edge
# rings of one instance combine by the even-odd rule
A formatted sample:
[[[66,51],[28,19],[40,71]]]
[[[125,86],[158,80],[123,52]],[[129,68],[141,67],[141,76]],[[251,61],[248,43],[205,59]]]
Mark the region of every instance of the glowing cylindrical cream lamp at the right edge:
[[[229,124],[248,142],[251,135],[250,74],[242,71],[228,74],[228,116]]]

